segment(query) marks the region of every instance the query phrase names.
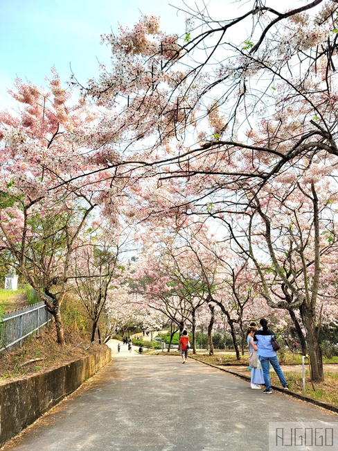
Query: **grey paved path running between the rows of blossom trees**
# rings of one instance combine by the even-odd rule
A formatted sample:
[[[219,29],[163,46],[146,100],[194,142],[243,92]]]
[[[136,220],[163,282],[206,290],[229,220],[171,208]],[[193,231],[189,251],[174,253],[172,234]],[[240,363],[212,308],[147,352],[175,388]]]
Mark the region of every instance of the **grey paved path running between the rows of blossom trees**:
[[[191,359],[114,352],[111,363],[3,450],[268,451],[268,424],[281,421],[337,429],[338,416],[284,393],[251,390]]]

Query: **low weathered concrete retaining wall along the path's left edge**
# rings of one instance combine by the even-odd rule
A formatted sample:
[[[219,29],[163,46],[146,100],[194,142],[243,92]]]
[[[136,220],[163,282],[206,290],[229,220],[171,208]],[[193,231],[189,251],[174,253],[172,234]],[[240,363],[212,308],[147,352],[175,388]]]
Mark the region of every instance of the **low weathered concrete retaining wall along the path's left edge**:
[[[104,350],[46,373],[0,383],[0,447],[112,359]]]

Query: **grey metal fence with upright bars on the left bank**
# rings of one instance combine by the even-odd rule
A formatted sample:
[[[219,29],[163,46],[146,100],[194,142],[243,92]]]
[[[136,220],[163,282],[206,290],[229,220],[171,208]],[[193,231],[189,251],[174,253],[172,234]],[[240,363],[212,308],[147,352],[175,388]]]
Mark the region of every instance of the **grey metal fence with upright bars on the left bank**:
[[[6,312],[0,319],[0,352],[16,346],[51,321],[43,302]]]

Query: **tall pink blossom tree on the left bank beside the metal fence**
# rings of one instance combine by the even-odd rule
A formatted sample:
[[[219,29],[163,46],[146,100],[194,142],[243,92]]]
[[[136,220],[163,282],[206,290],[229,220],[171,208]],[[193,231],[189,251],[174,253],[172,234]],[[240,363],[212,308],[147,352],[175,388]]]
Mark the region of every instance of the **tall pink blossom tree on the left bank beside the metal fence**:
[[[55,319],[64,343],[60,306],[67,292],[76,239],[96,205],[94,193],[64,180],[82,172],[82,150],[69,130],[91,120],[85,108],[69,108],[69,94],[54,72],[50,92],[17,80],[12,95],[19,114],[0,114],[1,249]]]

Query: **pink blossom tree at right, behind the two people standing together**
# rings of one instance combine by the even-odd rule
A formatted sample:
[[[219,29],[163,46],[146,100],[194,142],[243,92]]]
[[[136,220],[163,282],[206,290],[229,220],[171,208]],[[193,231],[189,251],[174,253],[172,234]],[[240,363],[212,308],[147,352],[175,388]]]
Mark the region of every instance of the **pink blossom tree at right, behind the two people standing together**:
[[[278,190],[266,185],[249,199],[247,221],[233,216],[228,226],[238,249],[255,264],[269,307],[287,309],[303,347],[308,342],[313,379],[323,380],[319,330],[323,312],[335,303],[337,187],[330,173],[321,171],[317,180],[317,171],[310,164],[291,186],[283,177]]]

